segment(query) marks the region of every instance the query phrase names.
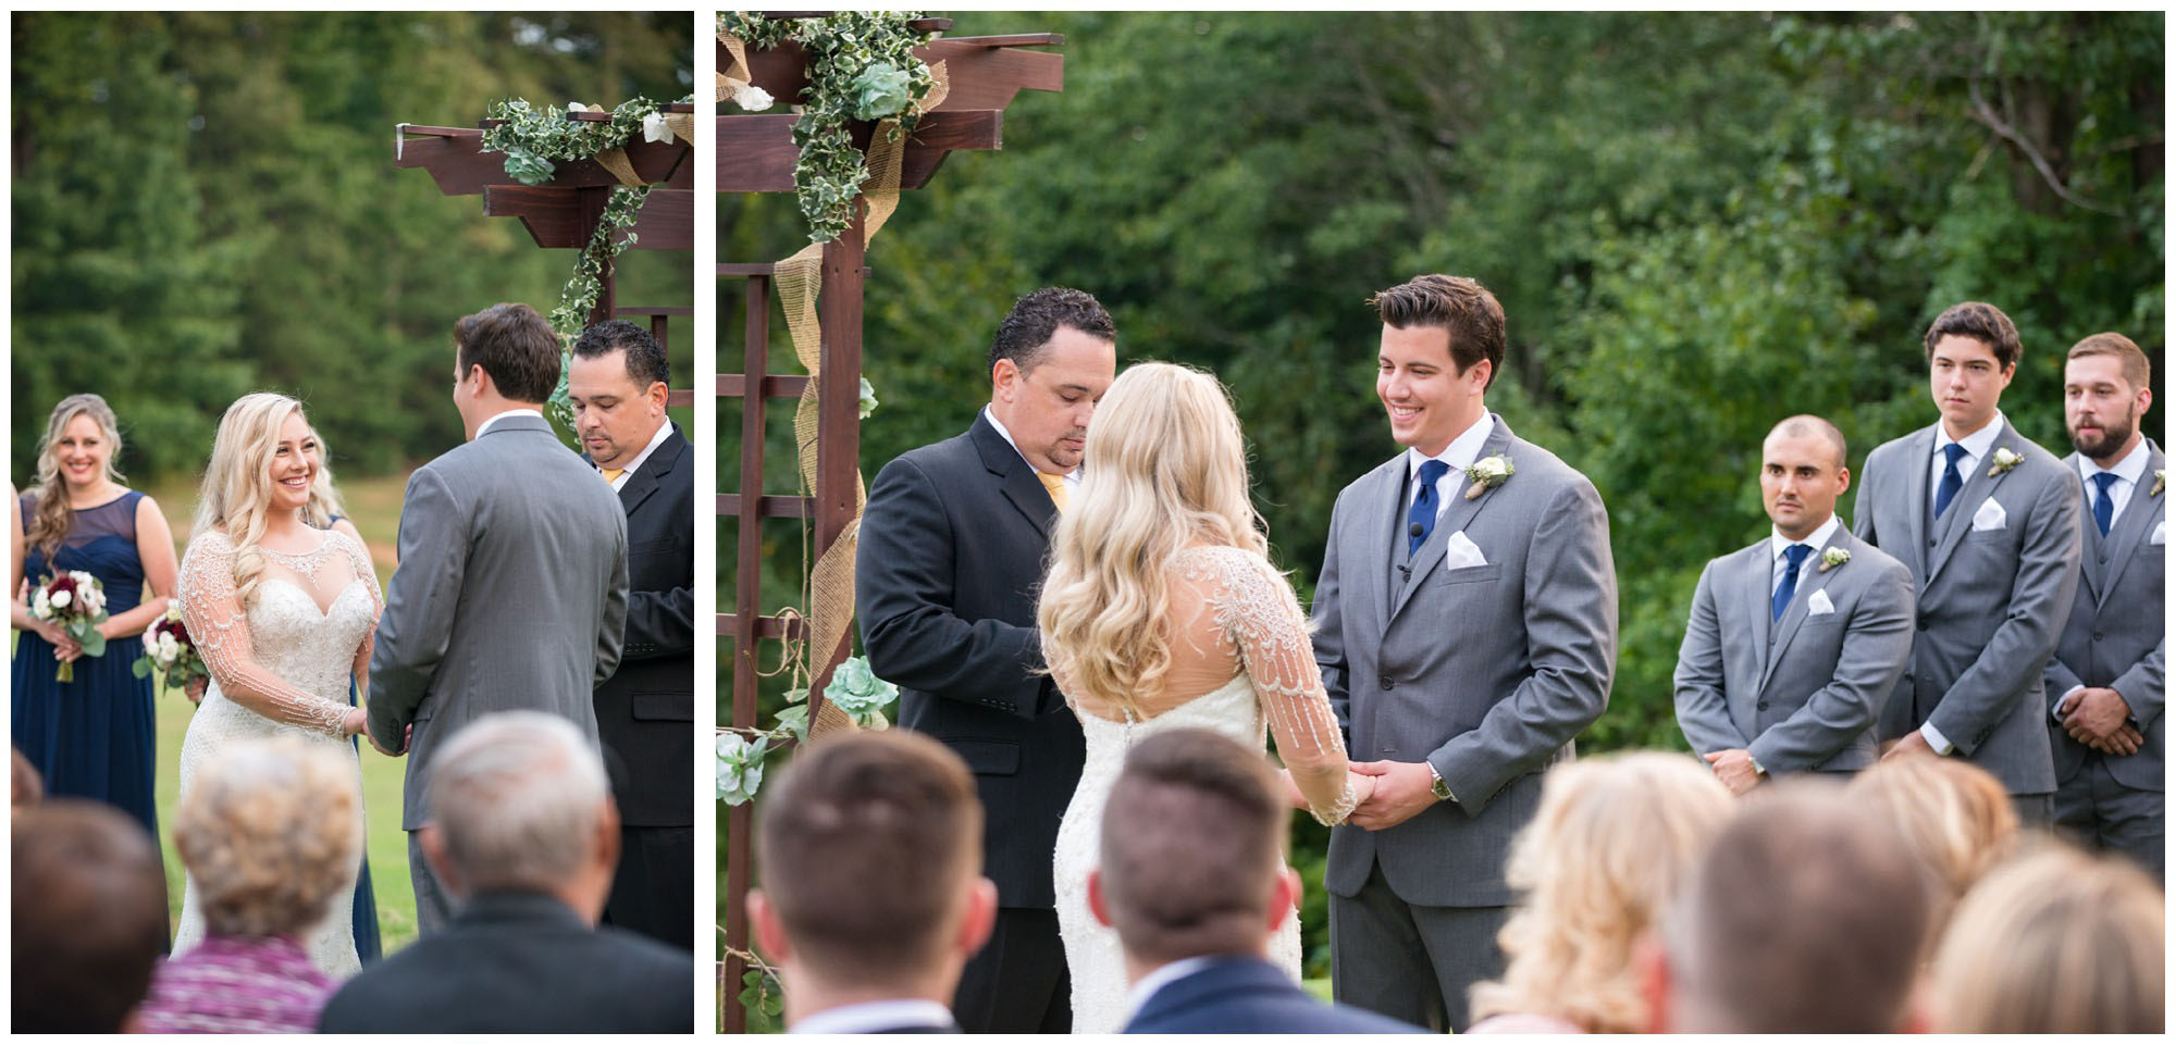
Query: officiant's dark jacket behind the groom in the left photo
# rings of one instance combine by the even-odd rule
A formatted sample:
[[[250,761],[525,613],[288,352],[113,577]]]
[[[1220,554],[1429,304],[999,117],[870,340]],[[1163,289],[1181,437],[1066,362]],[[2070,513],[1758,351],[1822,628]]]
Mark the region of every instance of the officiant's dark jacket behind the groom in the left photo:
[[[596,688],[596,734],[629,827],[694,825],[694,448],[679,425],[620,485],[627,644]]]

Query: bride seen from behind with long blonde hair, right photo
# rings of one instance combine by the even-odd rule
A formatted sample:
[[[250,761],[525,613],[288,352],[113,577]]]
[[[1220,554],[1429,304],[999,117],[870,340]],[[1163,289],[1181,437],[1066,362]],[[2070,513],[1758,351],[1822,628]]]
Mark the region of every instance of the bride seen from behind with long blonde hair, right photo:
[[[1103,806],[1125,753],[1162,729],[1208,727],[1277,755],[1316,821],[1338,823],[1373,777],[1351,773],[1308,620],[1264,557],[1245,442],[1216,379],[1171,364],[1118,374],[1088,429],[1088,472],[1051,540],[1042,651],[1081,721],[1088,760],[1058,827],[1058,934],[1073,1030],[1125,1023],[1125,956],[1088,912]],[[1299,978],[1299,914],[1271,938]]]

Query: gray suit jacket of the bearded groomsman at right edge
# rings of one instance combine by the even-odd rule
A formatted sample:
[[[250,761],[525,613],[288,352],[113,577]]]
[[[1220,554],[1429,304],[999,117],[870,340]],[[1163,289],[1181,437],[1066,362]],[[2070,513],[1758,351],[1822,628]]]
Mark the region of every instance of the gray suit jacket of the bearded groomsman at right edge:
[[[2085,583],[2072,601],[2063,638],[2056,640],[2054,660],[2048,662],[2048,712],[2072,686],[2109,686],[2124,694],[2130,705],[2130,721],[2146,738],[2135,755],[2109,758],[2109,775],[2117,784],[2137,790],[2161,790],[2161,697],[2163,657],[2167,651],[2167,603],[2163,603],[2163,575],[2167,573],[2167,549],[2154,544],[2152,536],[2167,527],[2167,490],[2159,496],[2154,472],[2167,468],[2161,446],[2148,440],[2152,455],[2146,477],[2130,492],[2124,514],[2115,516],[2109,536],[2100,536],[2093,525],[2091,488],[2078,479],[2078,455],[2063,457],[2063,466],[2078,483],[2078,540],[2085,546]],[[2165,538],[2163,538],[2165,540]],[[2054,777],[2067,782],[2085,764],[2085,745],[2048,718],[2048,742],[2054,747]]]

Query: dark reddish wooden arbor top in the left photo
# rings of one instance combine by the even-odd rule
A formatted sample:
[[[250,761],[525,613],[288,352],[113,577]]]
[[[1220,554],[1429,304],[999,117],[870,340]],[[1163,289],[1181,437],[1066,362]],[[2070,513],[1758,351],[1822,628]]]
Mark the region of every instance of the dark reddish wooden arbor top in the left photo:
[[[692,104],[666,104],[666,113],[694,113]],[[611,113],[561,113],[566,120],[607,122]],[[483,120],[474,128],[466,126],[422,126],[398,124],[394,133],[394,165],[424,168],[431,181],[446,196],[483,194],[483,213],[492,218],[520,218],[522,229],[537,246],[564,246],[581,250],[596,233],[596,222],[605,216],[605,200],[620,185],[605,165],[594,159],[561,161],[553,179],[544,185],[522,185],[507,176],[503,152],[483,152],[483,131],[496,120]],[[627,142],[627,161],[644,183],[653,187],[635,213],[635,250],[694,250],[694,150],[685,142]],[[618,305],[614,266],[605,266],[598,281],[596,309],[590,322],[611,318],[644,318],[651,337],[659,346],[666,342],[666,318],[694,316],[688,307],[664,305]],[[548,309],[544,309],[548,311]],[[668,405],[692,407],[694,390],[677,388]]]

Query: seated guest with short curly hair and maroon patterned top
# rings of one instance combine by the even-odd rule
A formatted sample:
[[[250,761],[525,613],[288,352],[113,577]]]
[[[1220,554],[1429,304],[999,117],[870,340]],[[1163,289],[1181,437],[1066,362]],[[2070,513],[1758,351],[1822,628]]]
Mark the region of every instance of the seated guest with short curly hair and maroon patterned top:
[[[159,967],[144,1032],[318,1028],[339,984],[302,941],[355,877],[359,799],[353,771],[300,740],[235,745],[205,766],[174,810],[174,847],[205,899],[205,943]]]

